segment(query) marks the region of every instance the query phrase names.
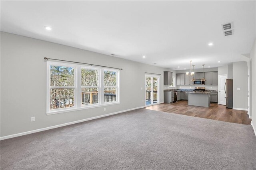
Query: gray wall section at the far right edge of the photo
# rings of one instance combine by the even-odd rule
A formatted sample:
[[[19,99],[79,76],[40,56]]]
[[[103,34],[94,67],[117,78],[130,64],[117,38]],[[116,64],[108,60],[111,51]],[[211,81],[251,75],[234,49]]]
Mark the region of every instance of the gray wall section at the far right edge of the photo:
[[[252,75],[252,89],[250,91],[250,96],[252,98],[252,105],[250,107],[251,109],[251,115],[252,115],[252,125],[254,126],[254,129],[256,130],[256,40],[254,41],[254,44],[252,46],[251,52],[250,52],[250,59],[252,62],[252,67],[251,67],[251,75]]]

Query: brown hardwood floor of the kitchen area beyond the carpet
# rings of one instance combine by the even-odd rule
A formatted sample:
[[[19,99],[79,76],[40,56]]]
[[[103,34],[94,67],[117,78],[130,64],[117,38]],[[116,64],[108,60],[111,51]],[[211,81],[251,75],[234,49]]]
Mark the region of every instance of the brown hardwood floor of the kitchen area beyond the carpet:
[[[250,125],[252,121],[252,119],[249,119],[247,111],[227,109],[226,106],[218,105],[217,103],[211,103],[210,107],[200,107],[189,106],[188,101],[182,100],[171,104],[162,103],[159,105],[153,105],[146,107],[146,109],[244,125]]]

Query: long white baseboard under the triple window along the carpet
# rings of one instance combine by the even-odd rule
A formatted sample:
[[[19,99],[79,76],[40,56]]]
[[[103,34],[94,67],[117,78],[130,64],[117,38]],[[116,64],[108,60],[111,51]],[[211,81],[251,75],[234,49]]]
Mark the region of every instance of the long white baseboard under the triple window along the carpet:
[[[123,112],[132,111],[132,110],[136,110],[136,109],[141,109],[141,108],[144,108],[144,107],[145,107],[145,106],[136,107],[136,108],[127,109],[127,110],[124,110],[124,111],[118,111],[118,112],[114,112],[114,113],[109,113],[109,114],[106,114],[106,115],[100,115],[100,116],[96,116],[96,117],[90,117],[90,118],[82,119],[82,120],[79,120],[79,121],[74,121],[74,122],[69,122],[69,123],[63,123],[63,124],[55,125],[55,126],[51,126],[51,127],[39,128],[39,129],[36,129],[36,130],[30,130],[30,131],[27,131],[27,132],[21,132],[21,133],[17,133],[17,134],[11,134],[11,135],[7,135],[7,136],[2,136],[2,137],[0,137],[0,140],[9,139],[9,138],[14,138],[14,137],[23,136],[23,135],[26,135],[26,134],[31,134],[31,133],[36,133],[36,132],[42,132],[42,131],[44,131],[44,130],[49,130],[49,129],[53,129],[53,128],[64,127],[64,126],[67,126],[67,125],[72,125],[72,124],[76,124],[76,123],[81,123],[81,122],[85,122],[85,121],[90,121],[90,120],[98,119],[98,118],[101,118],[101,117],[107,117],[107,116],[110,116],[110,115],[116,115],[116,114],[118,114],[118,113],[123,113]]]

